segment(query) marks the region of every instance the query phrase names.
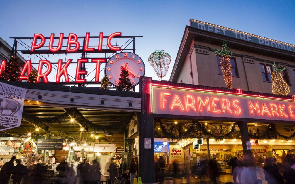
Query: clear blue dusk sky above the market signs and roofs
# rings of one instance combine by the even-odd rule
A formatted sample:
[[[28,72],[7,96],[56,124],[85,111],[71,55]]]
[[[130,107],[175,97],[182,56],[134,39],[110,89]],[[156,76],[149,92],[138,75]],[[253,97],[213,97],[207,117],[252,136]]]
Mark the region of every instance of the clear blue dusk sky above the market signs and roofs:
[[[148,63],[155,50],[172,61],[169,79],[184,28],[189,19],[295,44],[295,1],[8,1],[0,0],[0,37],[32,37],[41,33],[98,36],[142,35],[136,54],[146,66],[145,76],[158,79]],[[25,57],[26,58],[26,57]],[[27,59],[27,58],[26,58]],[[57,62],[57,61],[54,61]]]

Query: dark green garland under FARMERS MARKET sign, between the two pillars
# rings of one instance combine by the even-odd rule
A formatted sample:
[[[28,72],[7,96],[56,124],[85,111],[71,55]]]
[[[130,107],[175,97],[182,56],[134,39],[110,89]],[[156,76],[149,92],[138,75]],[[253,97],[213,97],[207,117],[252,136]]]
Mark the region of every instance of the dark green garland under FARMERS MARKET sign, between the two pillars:
[[[227,134],[215,137],[212,133],[206,130],[204,125],[201,125],[198,121],[193,121],[193,123],[191,124],[191,126],[185,133],[181,134],[181,132],[179,132],[179,135],[176,136],[172,134],[172,130],[169,130],[169,132],[166,130],[166,127],[162,124],[160,119],[158,119],[158,123],[160,124],[160,127],[165,137],[167,137],[167,139],[170,139],[170,140],[182,140],[182,139],[191,138],[192,132],[194,131],[197,132],[199,130],[201,130],[201,132],[208,138],[212,138],[215,140],[229,139],[229,138],[232,138],[232,135],[235,132],[235,127],[237,126],[237,123],[235,123],[234,126],[232,126],[232,129],[230,130],[230,132],[228,132]]]

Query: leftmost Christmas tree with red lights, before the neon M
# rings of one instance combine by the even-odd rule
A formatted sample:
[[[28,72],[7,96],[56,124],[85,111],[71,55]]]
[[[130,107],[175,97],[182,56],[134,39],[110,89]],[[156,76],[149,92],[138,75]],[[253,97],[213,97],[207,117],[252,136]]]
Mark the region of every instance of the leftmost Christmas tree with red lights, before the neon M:
[[[9,62],[7,62],[6,68],[2,71],[0,75],[1,80],[12,80],[18,81],[20,77],[20,67],[17,56],[10,56]]]

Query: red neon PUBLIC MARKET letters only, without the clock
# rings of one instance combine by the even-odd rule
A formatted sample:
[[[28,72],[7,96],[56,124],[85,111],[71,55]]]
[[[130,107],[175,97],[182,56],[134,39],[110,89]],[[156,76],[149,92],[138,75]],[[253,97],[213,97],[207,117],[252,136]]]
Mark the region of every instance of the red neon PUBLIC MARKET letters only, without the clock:
[[[109,47],[110,50],[113,51],[120,51],[121,47],[115,47],[111,44],[111,40],[114,37],[121,36],[120,32],[115,32],[107,37],[106,44]],[[58,37],[58,44],[56,47],[53,47],[54,40],[56,39],[55,34],[51,34],[49,38],[49,44],[48,48],[50,52],[58,52],[62,49],[63,46],[63,41],[65,40],[64,34],[60,33],[60,36]],[[89,39],[90,39],[90,33],[86,33],[85,36],[85,41],[82,44],[83,45],[83,51],[85,52],[93,52],[95,51],[95,48],[89,46]],[[37,49],[42,48],[45,45],[45,40],[46,38],[42,34],[34,34],[34,37],[32,39],[32,45],[30,52],[34,54],[34,52]],[[99,38],[98,38],[98,47],[97,51],[102,50],[102,41],[103,41],[103,33],[99,33]],[[67,46],[66,46],[66,53],[75,53],[80,49],[81,44],[78,42],[78,36],[76,34],[70,33],[68,35],[67,39]],[[58,68],[56,72],[56,77],[55,77],[55,83],[60,83],[60,78],[64,77],[64,80],[66,83],[70,82],[69,75],[68,75],[68,66],[71,64],[73,59],[68,59],[67,61],[63,62],[62,59],[58,60]],[[95,81],[96,83],[99,82],[99,72],[100,72],[100,64],[105,63],[106,59],[105,58],[94,58],[94,59],[78,59],[77,64],[76,64],[76,75],[75,75],[75,82],[76,83],[86,83],[86,79],[81,79],[82,75],[87,75],[87,71],[81,70],[81,65],[83,63],[87,62],[92,62],[96,63],[96,69],[95,69]],[[6,67],[6,60],[2,60],[0,64],[0,74]],[[44,68],[45,71],[44,71]],[[26,63],[24,64],[24,67],[22,68],[22,71],[20,73],[20,81],[22,80],[27,80],[28,75],[32,71],[32,61],[27,60]],[[48,80],[48,75],[52,71],[52,63],[46,59],[40,59],[39,65],[38,65],[38,77],[37,77],[37,82],[39,83],[40,80],[42,79],[44,83],[49,83]]]

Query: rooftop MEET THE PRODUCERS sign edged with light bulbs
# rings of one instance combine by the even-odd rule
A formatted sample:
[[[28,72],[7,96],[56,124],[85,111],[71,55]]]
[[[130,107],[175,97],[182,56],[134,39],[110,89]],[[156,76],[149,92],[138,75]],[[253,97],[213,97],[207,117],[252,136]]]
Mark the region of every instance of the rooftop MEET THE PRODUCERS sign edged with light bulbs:
[[[237,31],[234,29],[230,29],[227,27],[209,24],[207,22],[202,22],[202,21],[193,20],[193,19],[190,20],[190,24],[194,28],[201,29],[207,32],[221,34],[227,37],[245,40],[255,44],[260,44],[260,45],[265,45],[268,47],[274,47],[274,48],[283,49],[286,51],[295,52],[295,45],[292,45],[292,44],[280,42],[280,41],[265,38],[265,37],[260,37],[254,34],[249,34],[249,33]]]

